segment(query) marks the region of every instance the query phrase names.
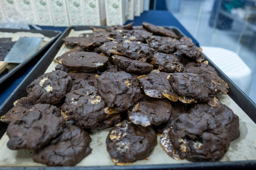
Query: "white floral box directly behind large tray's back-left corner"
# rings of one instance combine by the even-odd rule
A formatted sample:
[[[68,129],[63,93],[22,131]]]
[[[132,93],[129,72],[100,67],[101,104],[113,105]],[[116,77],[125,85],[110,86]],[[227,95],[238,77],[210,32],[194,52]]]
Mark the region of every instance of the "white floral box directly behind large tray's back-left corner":
[[[67,0],[70,26],[84,26],[86,24],[82,1]]]

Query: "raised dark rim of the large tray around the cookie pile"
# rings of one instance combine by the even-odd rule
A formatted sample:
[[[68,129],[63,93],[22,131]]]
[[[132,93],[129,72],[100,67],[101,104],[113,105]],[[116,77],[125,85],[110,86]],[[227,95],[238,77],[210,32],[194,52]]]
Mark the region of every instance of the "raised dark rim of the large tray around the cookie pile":
[[[91,26],[92,27],[92,26]],[[3,106],[8,102],[8,100],[10,100],[13,95],[15,94],[15,92],[17,92],[18,87],[20,87],[23,83],[25,83],[25,81],[27,79],[29,79],[30,74],[33,74],[33,71],[37,68],[37,66],[40,65],[40,62],[43,61],[43,59],[47,56],[50,55],[49,53],[51,53],[55,46],[60,48],[60,46],[63,44],[61,39],[63,38],[64,35],[68,35],[71,29],[79,29],[79,28],[90,28],[90,26],[72,26],[72,27],[68,27],[59,37],[58,39],[54,42],[54,44],[48,49],[48,51],[42,56],[42,58],[39,60],[39,62],[34,66],[34,68],[28,73],[28,75],[24,78],[24,80],[17,86],[17,88],[13,91],[13,93],[4,101],[4,103],[0,106],[0,112],[2,111]],[[95,28],[106,28],[106,26],[95,26]],[[168,26],[166,27],[168,29],[176,29],[177,31],[179,31],[183,36],[185,36],[177,27],[172,27],[172,26]],[[85,29],[84,29],[85,30]],[[78,30],[77,30],[78,31]],[[61,45],[58,45],[61,44]],[[59,49],[58,49],[59,50]],[[57,51],[58,51],[57,50]],[[56,55],[56,54],[55,54]],[[55,56],[54,55],[54,56]],[[205,55],[204,55],[205,56]],[[209,58],[207,56],[205,56],[205,58],[207,59],[207,61],[209,61],[209,65],[213,66],[217,73],[222,77],[222,79],[224,81],[226,81],[229,85],[229,87],[232,88],[232,90],[235,90],[235,93],[230,93],[229,90],[228,95],[231,97],[231,99],[236,102],[238,104],[238,106],[254,121],[254,123],[256,123],[256,104],[250,99],[248,98],[248,96],[246,96],[244,94],[244,92],[236,85],[234,84],[211,60],[209,60]],[[52,61],[51,61],[52,62]],[[46,68],[47,69],[47,68]],[[231,89],[230,88],[230,89]],[[242,96],[241,100],[239,100],[237,97],[237,95]],[[241,103],[244,102],[245,106],[242,108],[240,105]],[[242,104],[244,104],[242,103]],[[247,107],[247,105],[249,105],[248,103],[250,103],[251,107]],[[250,110],[250,108],[252,108],[252,113],[247,113],[248,110]],[[0,122],[1,123],[1,122]],[[3,122],[2,122],[3,123]],[[1,128],[1,127],[0,127]],[[2,137],[2,135],[0,134],[0,137]],[[182,164],[153,164],[153,165],[129,165],[129,166],[74,166],[74,167],[0,167],[1,169],[57,169],[57,168],[61,168],[63,170],[67,170],[67,169],[86,169],[86,170],[116,170],[116,169],[128,169],[128,170],[142,170],[142,169],[170,169],[170,168],[175,168],[175,169],[184,169],[184,168],[191,168],[191,169],[209,169],[209,168],[252,168],[252,167],[256,167],[256,160],[240,160],[240,161],[225,161],[225,162],[199,162],[199,163],[182,163]]]

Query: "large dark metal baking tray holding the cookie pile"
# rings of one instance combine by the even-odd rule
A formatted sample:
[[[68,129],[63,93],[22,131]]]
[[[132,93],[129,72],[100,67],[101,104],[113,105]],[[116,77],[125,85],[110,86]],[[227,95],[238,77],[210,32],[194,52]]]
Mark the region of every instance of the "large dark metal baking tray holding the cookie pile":
[[[95,27],[95,28],[106,28],[106,27]],[[185,36],[176,27],[166,27],[174,31],[179,37]],[[27,96],[26,87],[40,75],[44,74],[49,64],[53,61],[55,55],[59,51],[63,44],[62,38],[69,35],[71,29],[75,31],[88,30],[88,26],[74,26],[69,27],[62,33],[62,35],[56,40],[53,46],[44,54],[41,60],[34,66],[29,72],[25,79],[18,85],[13,93],[5,100],[0,106],[0,116],[4,115],[13,107],[13,102],[17,99]],[[212,63],[207,56],[205,59],[209,61],[209,65],[215,68],[219,77],[221,77],[230,89],[228,92],[229,97],[236,102],[236,104],[256,123],[256,104],[248,98],[237,85],[235,85],[214,63]],[[0,122],[0,137],[6,132],[6,123]],[[100,160],[99,160],[100,161]],[[116,170],[116,169],[236,169],[236,168],[256,168],[256,160],[244,160],[244,161],[226,161],[226,162],[201,162],[201,163],[186,163],[186,164],[158,164],[158,165],[129,165],[129,166],[89,166],[89,167],[0,167],[0,169],[87,169],[87,170]]]

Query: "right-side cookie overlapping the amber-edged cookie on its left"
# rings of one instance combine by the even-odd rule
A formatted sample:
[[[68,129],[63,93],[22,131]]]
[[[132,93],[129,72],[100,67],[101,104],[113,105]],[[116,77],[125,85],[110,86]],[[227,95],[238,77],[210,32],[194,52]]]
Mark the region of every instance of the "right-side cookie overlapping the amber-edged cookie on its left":
[[[205,75],[205,74],[202,74]],[[197,101],[208,102],[209,105],[217,106],[215,88],[213,82],[205,82],[204,77],[192,73],[172,73],[168,76],[171,87],[183,103],[196,103]]]

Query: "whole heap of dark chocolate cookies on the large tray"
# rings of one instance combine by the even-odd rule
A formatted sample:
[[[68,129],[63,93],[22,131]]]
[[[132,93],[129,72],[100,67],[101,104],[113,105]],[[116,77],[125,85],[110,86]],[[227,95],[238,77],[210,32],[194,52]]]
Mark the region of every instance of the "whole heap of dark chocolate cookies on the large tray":
[[[238,116],[216,96],[227,83],[190,38],[144,22],[63,40],[73,49],[61,65],[1,117],[10,149],[73,166],[92,151],[86,131],[114,126],[106,149],[115,165],[146,158],[157,134],[172,158],[200,162],[221,159],[240,136]]]

